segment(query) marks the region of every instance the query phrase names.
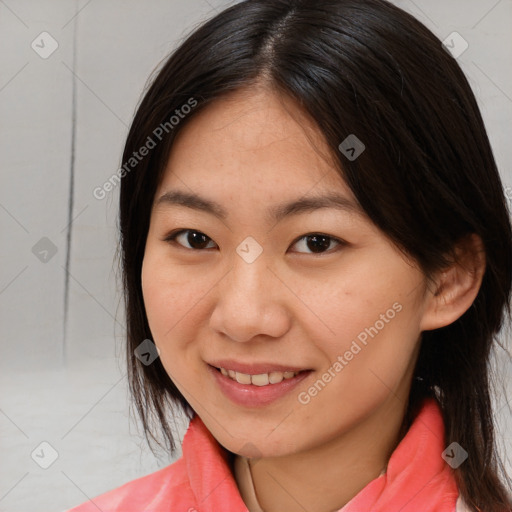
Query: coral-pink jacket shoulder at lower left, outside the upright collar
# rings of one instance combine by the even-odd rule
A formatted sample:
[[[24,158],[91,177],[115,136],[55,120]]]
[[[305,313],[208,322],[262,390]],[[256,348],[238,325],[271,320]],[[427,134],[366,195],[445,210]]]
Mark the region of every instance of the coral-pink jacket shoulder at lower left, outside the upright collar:
[[[125,483],[66,512],[140,512],[193,502],[183,457],[165,468]]]

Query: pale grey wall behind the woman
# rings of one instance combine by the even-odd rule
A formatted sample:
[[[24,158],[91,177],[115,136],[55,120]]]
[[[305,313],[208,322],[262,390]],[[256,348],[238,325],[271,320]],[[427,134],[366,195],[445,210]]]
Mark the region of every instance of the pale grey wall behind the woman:
[[[0,511],[66,510],[180,455],[155,458],[130,422],[118,190],[92,191],[120,165],[151,71],[228,3],[0,0]],[[512,0],[395,3],[467,41],[458,60],[512,201]],[[511,368],[496,363],[505,454]]]

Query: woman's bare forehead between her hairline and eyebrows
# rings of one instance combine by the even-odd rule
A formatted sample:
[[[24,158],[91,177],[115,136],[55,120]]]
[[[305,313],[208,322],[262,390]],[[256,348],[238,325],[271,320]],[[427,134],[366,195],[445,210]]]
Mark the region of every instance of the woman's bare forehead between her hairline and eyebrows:
[[[177,184],[233,191],[343,192],[323,134],[289,97],[267,88],[240,89],[214,100],[178,133],[159,192]]]

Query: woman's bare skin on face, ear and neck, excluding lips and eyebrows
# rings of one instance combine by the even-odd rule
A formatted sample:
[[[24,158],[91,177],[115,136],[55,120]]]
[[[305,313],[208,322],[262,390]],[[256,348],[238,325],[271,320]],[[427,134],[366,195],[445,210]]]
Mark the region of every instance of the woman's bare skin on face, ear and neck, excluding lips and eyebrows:
[[[291,99],[264,86],[230,93],[179,133],[147,236],[142,288],[161,362],[222,446],[258,457],[252,476],[266,512],[337,510],[379,475],[401,438],[421,332],[470,307],[485,264],[469,258],[473,271],[454,266],[432,287],[364,212],[322,208],[267,222],[270,205],[305,195],[336,191],[357,203],[328,154]],[[171,189],[220,203],[226,220],[157,205]],[[178,228],[204,233],[207,247],[191,248],[187,233],[164,240]],[[316,254],[302,238],[314,233],[332,237]],[[263,249],[250,264],[236,252],[248,236]],[[394,303],[394,318],[300,403]],[[242,407],[206,370],[217,358],[314,372],[263,409]]]

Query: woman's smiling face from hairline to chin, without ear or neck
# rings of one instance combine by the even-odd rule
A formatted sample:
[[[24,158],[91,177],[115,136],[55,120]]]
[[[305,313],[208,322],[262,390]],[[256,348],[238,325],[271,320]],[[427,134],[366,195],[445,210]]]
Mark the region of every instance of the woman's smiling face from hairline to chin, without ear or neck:
[[[155,195],[141,276],[153,340],[235,453],[313,449],[408,394],[426,280],[327,154],[292,100],[239,90],[183,128]]]

